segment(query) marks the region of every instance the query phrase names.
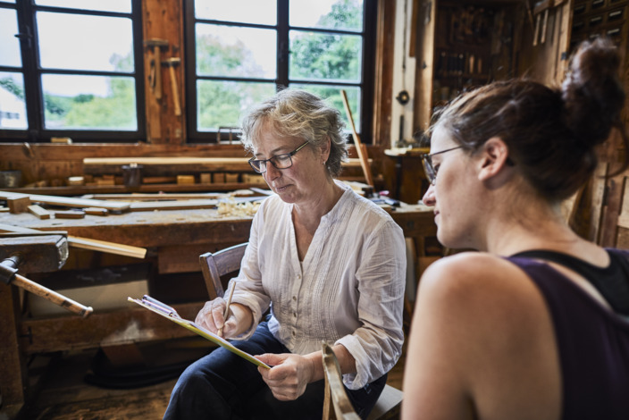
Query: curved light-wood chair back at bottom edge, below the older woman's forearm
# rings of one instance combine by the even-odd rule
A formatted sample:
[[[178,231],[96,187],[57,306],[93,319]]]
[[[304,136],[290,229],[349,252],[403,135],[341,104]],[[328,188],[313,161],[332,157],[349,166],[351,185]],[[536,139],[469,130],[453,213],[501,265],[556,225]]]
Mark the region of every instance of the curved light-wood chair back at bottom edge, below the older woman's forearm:
[[[325,373],[325,395],[323,420],[359,420],[340,376],[339,360],[330,345],[323,342],[323,372]]]

